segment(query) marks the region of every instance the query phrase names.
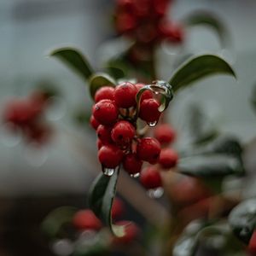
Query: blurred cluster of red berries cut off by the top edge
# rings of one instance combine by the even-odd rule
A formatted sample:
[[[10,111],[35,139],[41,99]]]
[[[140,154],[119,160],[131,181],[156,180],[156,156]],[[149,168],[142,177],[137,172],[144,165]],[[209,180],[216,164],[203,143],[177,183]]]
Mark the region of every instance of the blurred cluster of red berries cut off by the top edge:
[[[164,39],[183,40],[181,26],[166,20],[170,0],[116,0],[115,26],[119,34],[140,44],[156,44]]]

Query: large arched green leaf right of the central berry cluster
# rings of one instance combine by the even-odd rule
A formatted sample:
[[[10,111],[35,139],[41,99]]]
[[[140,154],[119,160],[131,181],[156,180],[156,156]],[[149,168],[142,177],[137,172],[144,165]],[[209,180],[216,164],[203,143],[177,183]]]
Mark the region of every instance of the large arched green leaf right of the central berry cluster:
[[[221,57],[217,55],[198,55],[178,67],[173,73],[169,84],[172,85],[172,89],[176,92],[199,79],[217,73],[229,74],[236,78],[236,74],[230,64]]]

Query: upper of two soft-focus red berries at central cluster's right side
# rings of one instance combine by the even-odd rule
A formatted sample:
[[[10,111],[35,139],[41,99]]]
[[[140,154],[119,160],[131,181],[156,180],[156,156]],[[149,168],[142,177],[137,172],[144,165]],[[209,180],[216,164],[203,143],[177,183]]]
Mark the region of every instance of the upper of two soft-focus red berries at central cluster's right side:
[[[171,125],[163,124],[154,129],[154,137],[163,145],[172,143],[176,134]]]

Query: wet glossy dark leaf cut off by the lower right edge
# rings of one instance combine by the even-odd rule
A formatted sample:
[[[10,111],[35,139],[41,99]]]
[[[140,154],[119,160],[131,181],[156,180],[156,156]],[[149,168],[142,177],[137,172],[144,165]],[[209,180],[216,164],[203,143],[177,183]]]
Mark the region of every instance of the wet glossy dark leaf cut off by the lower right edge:
[[[256,228],[256,199],[249,199],[236,206],[229,216],[234,234],[248,244]]]

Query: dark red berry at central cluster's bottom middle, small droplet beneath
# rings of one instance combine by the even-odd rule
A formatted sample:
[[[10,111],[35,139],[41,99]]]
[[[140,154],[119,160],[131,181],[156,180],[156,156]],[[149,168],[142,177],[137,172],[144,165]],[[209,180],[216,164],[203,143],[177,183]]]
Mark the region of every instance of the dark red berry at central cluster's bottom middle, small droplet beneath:
[[[134,175],[141,172],[143,161],[138,159],[137,154],[130,153],[125,155],[123,166],[126,172]]]

